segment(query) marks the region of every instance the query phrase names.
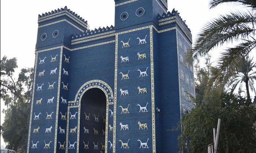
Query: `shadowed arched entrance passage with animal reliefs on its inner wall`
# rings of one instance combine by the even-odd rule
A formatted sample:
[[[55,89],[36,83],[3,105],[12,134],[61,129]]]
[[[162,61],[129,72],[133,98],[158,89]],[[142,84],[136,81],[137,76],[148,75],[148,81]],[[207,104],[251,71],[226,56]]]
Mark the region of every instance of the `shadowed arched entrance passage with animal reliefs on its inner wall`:
[[[101,89],[86,91],[81,100],[80,153],[99,153],[105,145],[106,95]]]

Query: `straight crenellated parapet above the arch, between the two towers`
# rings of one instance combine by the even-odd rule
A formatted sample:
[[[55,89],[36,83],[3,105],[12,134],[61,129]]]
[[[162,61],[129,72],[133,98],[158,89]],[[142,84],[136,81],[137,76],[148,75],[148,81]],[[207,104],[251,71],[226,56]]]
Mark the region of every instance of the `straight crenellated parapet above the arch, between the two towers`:
[[[78,43],[88,42],[96,39],[110,37],[115,35],[114,33],[115,33],[114,26],[112,25],[110,27],[108,26],[103,28],[99,27],[98,29],[95,28],[94,30],[87,30],[82,34],[72,35],[71,44],[78,44]]]

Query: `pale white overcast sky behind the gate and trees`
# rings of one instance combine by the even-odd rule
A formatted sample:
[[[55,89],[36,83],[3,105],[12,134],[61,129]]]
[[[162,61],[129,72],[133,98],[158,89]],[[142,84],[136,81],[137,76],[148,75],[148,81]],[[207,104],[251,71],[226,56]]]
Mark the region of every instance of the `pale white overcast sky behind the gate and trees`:
[[[114,26],[114,0],[1,0],[0,3],[0,58],[4,55],[8,58],[16,57],[18,71],[24,67],[34,67],[38,14],[67,6],[87,20],[92,30],[99,26]],[[208,3],[209,0],[168,0],[168,10],[175,8],[180,13],[195,40],[196,34],[206,21],[238,9],[234,5],[221,5],[209,10]],[[218,55],[216,51],[212,53],[212,62]],[[254,93],[251,93],[251,96],[254,96]],[[0,111],[3,109],[4,103],[1,101]],[[3,113],[0,121],[1,124],[4,121]],[[1,145],[3,144],[1,137]]]

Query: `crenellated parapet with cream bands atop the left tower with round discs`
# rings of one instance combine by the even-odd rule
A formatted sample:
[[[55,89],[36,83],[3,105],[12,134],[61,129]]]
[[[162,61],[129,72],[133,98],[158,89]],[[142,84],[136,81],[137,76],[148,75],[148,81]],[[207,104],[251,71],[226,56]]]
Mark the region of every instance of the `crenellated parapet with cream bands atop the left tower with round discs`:
[[[70,9],[65,6],[64,8],[58,8],[57,10],[55,9],[54,11],[51,12],[45,12],[42,15],[38,15],[38,23],[42,23],[44,21],[56,19],[57,17],[61,16],[67,16],[69,19],[75,21],[78,23],[80,26],[84,27],[87,29],[87,20],[84,20],[82,17],[80,17],[78,14],[75,12],[71,11]]]

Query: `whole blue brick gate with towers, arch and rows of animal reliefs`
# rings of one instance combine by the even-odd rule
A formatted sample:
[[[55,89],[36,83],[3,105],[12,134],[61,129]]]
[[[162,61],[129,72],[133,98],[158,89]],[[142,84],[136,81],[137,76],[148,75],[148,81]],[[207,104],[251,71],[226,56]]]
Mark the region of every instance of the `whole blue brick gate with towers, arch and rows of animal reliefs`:
[[[67,7],[38,16],[27,153],[178,152],[192,36],[167,0],[115,0],[115,26]]]

